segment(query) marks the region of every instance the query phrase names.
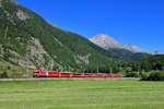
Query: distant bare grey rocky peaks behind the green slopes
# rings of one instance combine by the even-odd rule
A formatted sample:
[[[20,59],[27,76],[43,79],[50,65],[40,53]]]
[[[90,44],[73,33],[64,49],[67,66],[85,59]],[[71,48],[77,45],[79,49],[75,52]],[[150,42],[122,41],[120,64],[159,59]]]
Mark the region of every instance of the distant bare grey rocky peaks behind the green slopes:
[[[125,49],[125,50],[129,50],[131,52],[145,52],[143,49],[141,49],[138,46],[119,44],[113,37],[103,35],[103,34],[96,35],[95,37],[91,38],[90,40],[93,44],[95,44],[104,49],[114,48],[114,49]]]

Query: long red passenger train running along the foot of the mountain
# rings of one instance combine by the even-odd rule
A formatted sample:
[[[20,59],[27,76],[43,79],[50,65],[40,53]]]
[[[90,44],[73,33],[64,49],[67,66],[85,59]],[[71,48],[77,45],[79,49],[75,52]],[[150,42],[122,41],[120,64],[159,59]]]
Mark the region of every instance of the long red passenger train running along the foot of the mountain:
[[[105,74],[105,73],[71,73],[71,72],[55,72],[55,71],[36,71],[34,77],[109,77],[121,78],[122,74]]]

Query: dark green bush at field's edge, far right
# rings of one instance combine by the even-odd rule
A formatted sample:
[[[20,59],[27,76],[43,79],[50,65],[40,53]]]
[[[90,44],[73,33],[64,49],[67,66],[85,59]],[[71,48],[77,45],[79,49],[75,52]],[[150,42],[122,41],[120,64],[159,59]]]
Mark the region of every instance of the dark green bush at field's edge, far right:
[[[141,81],[164,81],[164,72],[153,72],[148,76],[142,76]]]

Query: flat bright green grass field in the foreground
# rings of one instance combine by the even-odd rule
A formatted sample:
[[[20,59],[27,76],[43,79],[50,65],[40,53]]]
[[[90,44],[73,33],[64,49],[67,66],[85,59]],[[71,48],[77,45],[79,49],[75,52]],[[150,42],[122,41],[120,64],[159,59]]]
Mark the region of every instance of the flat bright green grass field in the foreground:
[[[164,82],[0,82],[0,109],[164,109]]]

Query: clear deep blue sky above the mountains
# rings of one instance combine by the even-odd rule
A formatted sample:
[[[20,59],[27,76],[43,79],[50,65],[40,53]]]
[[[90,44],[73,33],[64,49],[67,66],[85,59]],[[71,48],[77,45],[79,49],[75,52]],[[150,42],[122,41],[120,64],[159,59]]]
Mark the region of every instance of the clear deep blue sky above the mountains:
[[[164,0],[19,0],[46,21],[84,37],[113,36],[164,52]]]

